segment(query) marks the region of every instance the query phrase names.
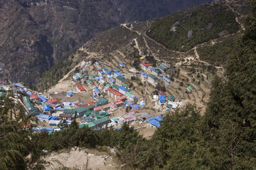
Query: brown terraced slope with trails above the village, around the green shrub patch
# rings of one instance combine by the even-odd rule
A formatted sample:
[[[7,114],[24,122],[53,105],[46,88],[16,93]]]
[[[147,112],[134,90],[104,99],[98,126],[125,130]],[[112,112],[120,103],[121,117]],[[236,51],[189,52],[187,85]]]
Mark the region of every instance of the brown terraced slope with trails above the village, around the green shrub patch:
[[[241,2],[242,4],[240,4],[240,6],[243,8],[247,6],[249,8],[249,5],[246,4],[245,1],[237,1],[236,3],[239,4]],[[230,15],[234,16],[230,22],[234,23],[237,30],[235,33],[227,33],[227,35],[219,38],[216,38],[215,34],[212,34],[210,40],[202,43],[197,42],[197,44],[187,52],[169,50],[146,34],[155,23],[162,20],[161,18],[155,21],[126,23],[107,30],[85,43],[85,45],[74,52],[63,65],[56,65],[46,72],[41,80],[40,87],[43,90],[48,89],[50,86],[57,84],[58,80],[63,78],[64,75],[65,78],[59,81],[59,84],[62,84],[65,79],[72,79],[71,77],[75,72],[81,71],[82,67],[80,67],[80,62],[82,62],[82,60],[85,62],[97,60],[103,66],[111,69],[117,67],[119,62],[124,62],[127,64],[127,68],[133,67],[139,69],[139,56],[153,55],[156,59],[156,65],[165,62],[170,64],[172,69],[176,70],[174,73],[170,72],[174,84],[167,89],[167,94],[172,94],[176,98],[188,99],[189,102],[196,103],[198,108],[205,108],[213,77],[215,77],[216,74],[223,75],[222,66],[225,63],[225,57],[236,52],[238,47],[236,41],[239,40],[240,35],[242,35],[243,23],[238,22],[238,20],[242,20],[245,16],[240,16],[238,9],[241,8],[234,8],[234,6],[238,4],[233,2],[214,2],[213,4],[208,4],[208,6],[199,6],[191,10],[193,12],[208,8],[214,11],[214,8],[225,8],[225,11],[228,11]],[[179,12],[179,14],[181,13],[182,12]],[[183,13],[184,16],[187,15],[186,11]],[[218,23],[218,19],[225,21],[225,17],[229,18],[229,16],[223,16],[222,18],[216,18],[217,21],[214,22]],[[205,18],[208,18],[208,16],[202,16],[197,19],[193,18],[193,20],[199,22]],[[171,25],[172,23],[166,24]],[[193,24],[190,25],[191,28],[193,28],[193,26]],[[223,30],[225,30],[227,26],[230,26],[230,23],[223,23]],[[223,30],[219,31],[221,32]],[[191,39],[193,38],[194,37],[191,37]],[[70,72],[66,69],[66,65],[68,65],[69,70],[72,69]],[[76,69],[73,69],[74,67],[76,67]],[[129,72],[129,70],[125,72]],[[189,85],[193,86],[196,91],[191,94],[186,94],[184,91],[186,91],[186,86]],[[137,86],[137,95],[142,96],[141,91],[144,90],[143,87]],[[150,95],[151,91],[153,91],[153,89],[148,89],[146,93]]]

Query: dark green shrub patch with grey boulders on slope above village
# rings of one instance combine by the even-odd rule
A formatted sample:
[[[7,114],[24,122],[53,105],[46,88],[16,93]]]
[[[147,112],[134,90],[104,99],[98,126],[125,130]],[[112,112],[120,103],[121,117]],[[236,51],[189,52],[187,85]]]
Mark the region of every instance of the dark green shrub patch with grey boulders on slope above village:
[[[197,44],[238,30],[232,11],[221,4],[206,4],[161,18],[146,34],[170,50],[188,51]]]

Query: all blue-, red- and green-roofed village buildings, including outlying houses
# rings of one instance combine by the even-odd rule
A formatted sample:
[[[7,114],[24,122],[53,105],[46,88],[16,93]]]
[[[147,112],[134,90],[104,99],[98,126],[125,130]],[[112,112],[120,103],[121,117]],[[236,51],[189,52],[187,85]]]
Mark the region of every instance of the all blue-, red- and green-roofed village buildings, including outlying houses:
[[[148,81],[153,86],[159,83],[159,79],[163,79],[166,84],[171,84],[171,80],[163,76],[169,66],[162,63],[158,67],[153,67],[151,63],[146,61],[145,57],[141,57],[141,67],[144,70],[141,78]],[[14,84],[18,92],[26,94],[23,96],[23,103],[26,106],[28,114],[36,115],[38,121],[48,123],[48,128],[38,127],[33,128],[35,131],[49,130],[53,132],[56,127],[63,123],[70,124],[75,118],[80,118],[80,128],[87,126],[88,128],[100,129],[105,125],[119,125],[124,122],[134,122],[136,120],[146,120],[156,127],[159,127],[162,116],[154,118],[154,115],[142,113],[136,116],[139,108],[144,108],[146,98],[138,98],[128,88],[127,79],[120,72],[119,68],[114,68],[111,71],[107,67],[102,67],[99,62],[95,62],[96,74],[88,74],[87,69],[82,69],[81,73],[73,75],[74,81],[80,81],[81,84],[75,86],[78,92],[87,91],[82,84],[87,83],[92,86],[93,101],[88,103],[70,103],[59,102],[55,98],[49,98],[36,92],[28,91],[22,84]],[[119,67],[125,67],[125,64],[120,62]],[[95,72],[94,72],[95,73]],[[1,82],[0,82],[1,83]],[[188,86],[188,91],[193,91],[191,86]],[[0,87],[0,97],[4,96],[4,89]],[[104,95],[103,95],[104,94]],[[160,99],[160,103],[166,103],[167,108],[175,109],[174,96],[166,96],[163,91],[158,91],[159,95],[154,95],[154,100]],[[65,96],[71,97],[75,95],[70,91]],[[107,95],[107,99],[103,96]],[[129,108],[129,111],[117,118],[110,118],[110,115],[117,111],[118,108]]]

